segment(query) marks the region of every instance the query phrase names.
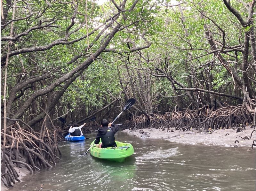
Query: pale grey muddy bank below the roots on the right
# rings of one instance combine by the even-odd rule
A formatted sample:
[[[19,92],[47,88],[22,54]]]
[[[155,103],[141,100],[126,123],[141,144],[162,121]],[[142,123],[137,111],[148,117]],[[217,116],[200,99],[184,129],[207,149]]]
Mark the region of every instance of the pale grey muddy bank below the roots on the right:
[[[236,129],[219,129],[210,130],[199,133],[198,130],[181,131],[170,129],[156,129],[156,128],[145,128],[137,130],[123,130],[124,133],[133,135],[142,139],[164,139],[171,142],[183,143],[183,144],[199,144],[199,145],[213,145],[213,146],[225,146],[225,147],[252,147],[253,140],[255,140],[255,131],[252,133],[254,128],[245,126],[242,132],[237,132]],[[210,132],[210,133],[209,133]],[[251,137],[252,133],[252,138]],[[243,139],[244,137],[245,140]],[[236,141],[237,140],[237,141]],[[236,143],[235,143],[236,141]],[[238,142],[239,141],[239,142]],[[253,147],[255,148],[255,147]]]

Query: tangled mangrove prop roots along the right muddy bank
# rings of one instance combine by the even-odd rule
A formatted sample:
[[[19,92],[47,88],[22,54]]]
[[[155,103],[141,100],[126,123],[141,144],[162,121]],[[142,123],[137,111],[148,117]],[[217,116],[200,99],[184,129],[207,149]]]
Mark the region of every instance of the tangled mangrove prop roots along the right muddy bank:
[[[198,132],[203,132],[210,128],[217,130],[236,126],[236,132],[242,132],[242,129],[245,129],[245,124],[251,124],[253,118],[254,113],[248,111],[244,105],[227,106],[216,111],[211,111],[205,106],[198,110],[175,110],[175,112],[167,112],[163,115],[156,113],[144,114],[133,117],[132,120],[128,120],[124,124],[127,125],[129,123],[130,129],[149,127],[156,128],[159,131],[160,128],[162,130],[164,128],[174,128],[175,130],[189,131],[192,127]]]

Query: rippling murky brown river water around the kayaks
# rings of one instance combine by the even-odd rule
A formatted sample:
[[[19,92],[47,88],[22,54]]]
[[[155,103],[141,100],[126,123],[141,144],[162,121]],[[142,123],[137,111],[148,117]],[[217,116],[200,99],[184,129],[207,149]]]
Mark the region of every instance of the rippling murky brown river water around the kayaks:
[[[25,176],[9,190],[41,190],[41,184],[45,191],[255,190],[255,150],[142,140],[118,132],[116,140],[132,143],[135,153],[116,163],[79,156],[92,140],[65,142],[60,163]]]

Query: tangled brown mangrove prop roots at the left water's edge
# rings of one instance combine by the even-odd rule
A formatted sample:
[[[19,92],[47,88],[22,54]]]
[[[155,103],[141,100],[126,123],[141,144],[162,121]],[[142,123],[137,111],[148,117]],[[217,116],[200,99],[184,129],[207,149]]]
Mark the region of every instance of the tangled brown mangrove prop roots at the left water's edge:
[[[27,168],[30,173],[41,167],[51,168],[61,156],[58,142],[64,141],[62,130],[58,127],[42,126],[42,134],[30,128],[21,128],[18,122],[6,129],[5,147],[1,131],[1,181],[12,187],[20,181],[18,168]],[[40,136],[41,135],[41,136]],[[59,155],[59,156],[58,156]]]

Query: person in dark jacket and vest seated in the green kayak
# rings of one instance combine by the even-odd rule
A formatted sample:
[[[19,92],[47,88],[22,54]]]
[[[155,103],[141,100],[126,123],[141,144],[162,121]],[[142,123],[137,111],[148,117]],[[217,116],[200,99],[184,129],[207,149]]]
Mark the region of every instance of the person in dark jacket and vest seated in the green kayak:
[[[118,131],[119,127],[113,123],[108,124],[108,120],[106,119],[102,119],[100,126],[101,128],[98,130],[94,144],[99,148],[116,147],[114,135]],[[99,144],[100,139],[102,144]]]

